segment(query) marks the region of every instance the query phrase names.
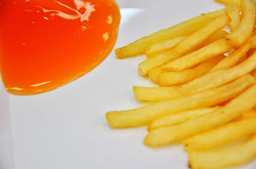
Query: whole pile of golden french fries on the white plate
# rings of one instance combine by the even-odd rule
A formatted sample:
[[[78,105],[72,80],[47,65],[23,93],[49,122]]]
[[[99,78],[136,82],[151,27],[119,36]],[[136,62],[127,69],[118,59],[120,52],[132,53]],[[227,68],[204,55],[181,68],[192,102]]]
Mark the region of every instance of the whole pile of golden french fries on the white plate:
[[[159,87],[134,86],[151,104],[111,111],[111,127],[148,125],[146,146],[181,142],[192,169],[220,169],[256,157],[256,28],[253,0],[216,0],[201,14],[115,50],[124,59],[145,54],[141,76]],[[230,33],[222,29],[228,25]],[[232,142],[247,138],[231,146]]]

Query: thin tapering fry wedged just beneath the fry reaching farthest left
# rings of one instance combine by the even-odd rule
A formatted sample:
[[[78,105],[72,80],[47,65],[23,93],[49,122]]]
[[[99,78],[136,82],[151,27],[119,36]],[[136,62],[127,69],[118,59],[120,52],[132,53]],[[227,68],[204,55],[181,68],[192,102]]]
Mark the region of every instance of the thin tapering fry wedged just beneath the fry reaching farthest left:
[[[162,118],[157,118],[156,120],[152,121],[151,124],[148,126],[148,132],[158,129],[160,127],[171,126],[174,124],[179,124],[184,121],[189,121],[208,113],[212,113],[217,110],[218,107],[208,107],[196,110],[189,110],[185,112],[178,112],[173,115],[167,115]]]

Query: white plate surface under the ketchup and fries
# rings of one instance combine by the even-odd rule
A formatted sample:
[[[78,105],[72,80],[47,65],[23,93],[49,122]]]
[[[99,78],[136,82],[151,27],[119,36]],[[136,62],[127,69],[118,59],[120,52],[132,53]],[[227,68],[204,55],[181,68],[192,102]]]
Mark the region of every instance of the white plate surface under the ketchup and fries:
[[[213,0],[117,3],[122,23],[115,48],[223,7]],[[87,75],[35,96],[9,95],[1,86],[0,169],[188,169],[182,146],[148,148],[144,127],[113,130],[105,120],[108,111],[143,105],[132,86],[153,86],[137,73],[144,59],[119,60],[112,52]],[[255,169],[256,162],[243,168]]]

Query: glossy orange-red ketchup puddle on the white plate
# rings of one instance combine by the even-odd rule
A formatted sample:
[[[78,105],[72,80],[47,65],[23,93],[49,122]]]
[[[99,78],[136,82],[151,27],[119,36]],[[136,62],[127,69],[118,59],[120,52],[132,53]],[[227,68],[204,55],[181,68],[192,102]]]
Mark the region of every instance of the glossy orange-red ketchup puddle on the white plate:
[[[99,65],[115,45],[113,0],[0,0],[0,72],[9,93],[44,93]]]

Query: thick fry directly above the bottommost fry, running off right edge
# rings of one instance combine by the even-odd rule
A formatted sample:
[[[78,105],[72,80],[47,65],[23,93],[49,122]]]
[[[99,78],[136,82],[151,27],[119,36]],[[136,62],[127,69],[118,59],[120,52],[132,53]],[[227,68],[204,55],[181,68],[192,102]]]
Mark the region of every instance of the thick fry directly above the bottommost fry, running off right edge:
[[[251,110],[252,111],[252,110]],[[256,118],[248,118],[209,130],[183,141],[187,152],[207,151],[256,132]]]

